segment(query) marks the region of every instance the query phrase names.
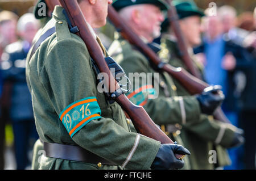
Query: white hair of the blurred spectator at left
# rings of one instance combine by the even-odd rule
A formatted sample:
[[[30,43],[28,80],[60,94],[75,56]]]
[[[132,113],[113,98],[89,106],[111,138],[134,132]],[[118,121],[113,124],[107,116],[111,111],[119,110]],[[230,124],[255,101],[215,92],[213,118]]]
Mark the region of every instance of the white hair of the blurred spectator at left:
[[[26,28],[27,24],[29,24],[29,23],[36,24],[36,26],[39,27],[39,22],[35,18],[34,14],[26,13],[26,14],[22,15],[18,20],[18,23],[17,23],[18,32],[25,31],[25,28]]]

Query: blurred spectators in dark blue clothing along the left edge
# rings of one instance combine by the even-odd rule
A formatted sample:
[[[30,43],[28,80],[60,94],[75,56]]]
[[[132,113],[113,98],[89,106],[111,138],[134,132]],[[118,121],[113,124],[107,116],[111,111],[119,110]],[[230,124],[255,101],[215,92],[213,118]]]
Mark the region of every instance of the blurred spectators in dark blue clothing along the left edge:
[[[14,12],[0,12],[0,169],[5,166],[6,124],[12,125],[16,169],[31,165],[28,153],[31,153],[38,133],[26,82],[26,57],[39,28],[40,23],[32,13],[18,17]]]

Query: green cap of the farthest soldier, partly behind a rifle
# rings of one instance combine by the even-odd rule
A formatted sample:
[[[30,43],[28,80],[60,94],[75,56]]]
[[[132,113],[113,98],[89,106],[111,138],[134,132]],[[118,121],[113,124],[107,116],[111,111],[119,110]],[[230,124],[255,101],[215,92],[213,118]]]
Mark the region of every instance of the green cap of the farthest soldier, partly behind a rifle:
[[[187,18],[189,16],[204,16],[204,10],[200,9],[196,6],[195,2],[193,1],[173,1],[173,5],[177,10],[177,15],[179,19]],[[168,27],[170,26],[170,21],[168,18],[164,20],[161,25],[162,32],[166,32]]]

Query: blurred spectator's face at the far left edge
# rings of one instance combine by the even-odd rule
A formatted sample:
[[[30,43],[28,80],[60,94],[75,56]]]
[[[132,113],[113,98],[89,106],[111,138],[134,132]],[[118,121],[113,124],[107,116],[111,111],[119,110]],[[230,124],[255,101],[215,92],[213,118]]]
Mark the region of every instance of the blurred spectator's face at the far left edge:
[[[16,21],[9,20],[3,22],[0,26],[0,36],[5,39],[7,44],[14,43],[16,41]]]

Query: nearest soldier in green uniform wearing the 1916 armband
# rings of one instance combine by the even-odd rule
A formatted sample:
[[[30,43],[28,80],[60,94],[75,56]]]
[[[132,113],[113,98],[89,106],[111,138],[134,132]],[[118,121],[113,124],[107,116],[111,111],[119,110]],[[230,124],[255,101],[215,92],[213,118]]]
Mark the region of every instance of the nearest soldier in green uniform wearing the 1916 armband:
[[[104,26],[112,0],[77,2],[108,56],[93,28]],[[71,31],[56,6],[27,56],[27,83],[45,151],[39,169],[182,168],[184,161],[174,154],[190,154],[183,146],[131,132],[122,108],[97,90],[88,49]]]

